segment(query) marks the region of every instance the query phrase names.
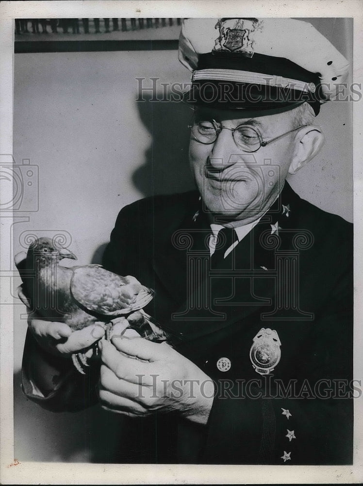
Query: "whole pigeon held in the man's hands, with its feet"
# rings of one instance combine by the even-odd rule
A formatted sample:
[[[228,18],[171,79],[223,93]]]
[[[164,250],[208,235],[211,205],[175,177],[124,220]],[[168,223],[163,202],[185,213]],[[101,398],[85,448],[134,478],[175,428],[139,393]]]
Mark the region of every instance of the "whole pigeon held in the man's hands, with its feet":
[[[33,312],[44,320],[64,322],[72,330],[100,322],[108,340],[113,319],[122,316],[128,320],[126,329],[134,329],[150,341],[169,339],[168,332],[143,311],[154,296],[152,289],[130,275],[122,277],[101,265],[60,265],[65,258],[77,260],[50,238],[38,238],[29,246],[25,271],[21,273]],[[93,346],[98,354],[97,343]],[[82,374],[88,366],[88,349],[72,355],[73,364]]]

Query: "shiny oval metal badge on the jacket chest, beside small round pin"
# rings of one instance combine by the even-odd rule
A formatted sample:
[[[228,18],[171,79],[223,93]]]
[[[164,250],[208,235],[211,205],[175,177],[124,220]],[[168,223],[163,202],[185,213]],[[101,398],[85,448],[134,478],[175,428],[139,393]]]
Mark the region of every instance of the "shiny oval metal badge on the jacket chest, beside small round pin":
[[[260,375],[268,375],[281,358],[281,342],[275,330],[262,328],[253,338],[249,351],[252,366]]]

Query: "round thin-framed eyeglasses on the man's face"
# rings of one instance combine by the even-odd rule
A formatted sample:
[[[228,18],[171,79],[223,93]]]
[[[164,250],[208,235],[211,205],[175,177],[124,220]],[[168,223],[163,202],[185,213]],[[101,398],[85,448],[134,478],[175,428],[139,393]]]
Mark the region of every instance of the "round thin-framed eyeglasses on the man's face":
[[[296,130],[304,126],[307,125],[300,125],[271,140],[264,140],[261,133],[256,128],[246,124],[238,125],[236,128],[228,128],[215,120],[194,121],[192,125],[188,125],[188,128],[192,130],[193,137],[198,142],[205,145],[214,143],[223,128],[225,128],[226,130],[231,130],[234,143],[237,145],[238,148],[244,150],[245,152],[257,152],[260,147],[265,147],[269,143],[281,139],[285,135],[295,132]]]

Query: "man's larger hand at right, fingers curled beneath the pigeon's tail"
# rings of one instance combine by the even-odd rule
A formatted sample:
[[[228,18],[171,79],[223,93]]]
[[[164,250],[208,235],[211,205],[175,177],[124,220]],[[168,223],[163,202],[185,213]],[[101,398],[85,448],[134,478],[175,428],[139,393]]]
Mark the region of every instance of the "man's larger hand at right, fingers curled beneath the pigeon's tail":
[[[102,340],[99,399],[104,409],[147,417],[154,411],[179,412],[206,424],[214,398],[212,380],[167,344],[143,338]]]

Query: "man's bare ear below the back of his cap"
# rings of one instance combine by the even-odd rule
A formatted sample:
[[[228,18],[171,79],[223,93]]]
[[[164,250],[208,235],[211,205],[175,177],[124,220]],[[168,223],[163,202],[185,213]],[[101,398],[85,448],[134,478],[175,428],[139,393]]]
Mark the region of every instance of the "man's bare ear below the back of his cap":
[[[319,152],[324,144],[324,135],[317,126],[305,126],[298,131],[295,139],[294,155],[289,174],[296,174]]]

